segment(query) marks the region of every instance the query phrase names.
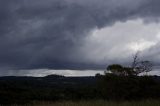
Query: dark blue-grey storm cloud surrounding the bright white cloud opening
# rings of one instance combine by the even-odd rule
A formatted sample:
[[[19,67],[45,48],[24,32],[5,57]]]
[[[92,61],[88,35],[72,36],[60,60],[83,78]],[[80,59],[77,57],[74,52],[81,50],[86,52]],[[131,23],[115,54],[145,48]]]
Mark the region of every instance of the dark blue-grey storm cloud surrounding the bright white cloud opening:
[[[1,0],[0,67],[99,68],[77,53],[87,34],[117,21],[155,21],[159,5],[159,0]]]

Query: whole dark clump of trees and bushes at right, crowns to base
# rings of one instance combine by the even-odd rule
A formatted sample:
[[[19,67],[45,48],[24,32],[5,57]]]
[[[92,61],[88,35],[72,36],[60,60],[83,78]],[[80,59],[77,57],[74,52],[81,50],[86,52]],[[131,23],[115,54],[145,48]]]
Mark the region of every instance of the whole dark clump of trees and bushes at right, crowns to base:
[[[100,77],[99,90],[107,100],[141,100],[160,98],[160,81],[153,76],[138,76],[152,70],[150,61],[140,61],[138,53],[133,58],[132,65],[125,67],[112,64],[107,67],[104,76]]]

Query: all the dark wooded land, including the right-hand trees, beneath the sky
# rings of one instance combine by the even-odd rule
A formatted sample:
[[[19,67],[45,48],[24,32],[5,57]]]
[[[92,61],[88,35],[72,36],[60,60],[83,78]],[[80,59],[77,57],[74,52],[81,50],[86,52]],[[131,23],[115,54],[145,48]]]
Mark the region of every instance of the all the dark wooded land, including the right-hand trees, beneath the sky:
[[[49,101],[54,102],[55,106],[134,106],[134,104],[135,106],[141,104],[147,106],[151,101],[144,100],[160,100],[160,77],[138,76],[139,73],[151,71],[152,65],[149,61],[139,61],[137,58],[136,54],[130,67],[112,64],[107,67],[107,71],[110,73],[96,74],[95,77],[64,77],[59,75],[0,77],[0,104],[24,105],[33,104],[33,101],[44,101],[45,104],[40,103],[40,106],[41,104],[42,106],[50,106],[52,104],[46,104]],[[57,101],[68,102],[59,103]],[[132,101],[143,102],[132,103]],[[154,102],[155,104],[159,103]]]

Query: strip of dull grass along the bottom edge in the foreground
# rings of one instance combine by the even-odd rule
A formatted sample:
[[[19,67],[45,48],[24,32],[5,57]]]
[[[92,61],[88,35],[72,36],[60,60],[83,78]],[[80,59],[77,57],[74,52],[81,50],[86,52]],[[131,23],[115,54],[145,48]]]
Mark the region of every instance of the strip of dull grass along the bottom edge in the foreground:
[[[0,105],[3,106],[3,105]],[[22,106],[22,105],[12,105]],[[26,104],[23,106],[160,106],[160,100],[145,100],[145,101],[124,101],[124,102],[113,102],[113,101],[63,101],[63,102],[34,102],[33,104]]]

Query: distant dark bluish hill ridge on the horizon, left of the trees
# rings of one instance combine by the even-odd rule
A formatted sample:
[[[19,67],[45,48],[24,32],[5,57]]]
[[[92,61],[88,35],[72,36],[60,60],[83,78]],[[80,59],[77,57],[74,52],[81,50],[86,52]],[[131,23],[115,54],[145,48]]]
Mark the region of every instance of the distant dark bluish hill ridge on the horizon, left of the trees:
[[[48,75],[45,77],[5,76],[0,77],[0,84],[14,83],[20,86],[37,87],[77,87],[80,85],[94,85],[96,77],[64,77],[60,75]]]

